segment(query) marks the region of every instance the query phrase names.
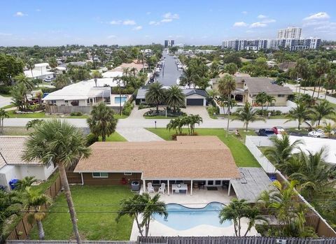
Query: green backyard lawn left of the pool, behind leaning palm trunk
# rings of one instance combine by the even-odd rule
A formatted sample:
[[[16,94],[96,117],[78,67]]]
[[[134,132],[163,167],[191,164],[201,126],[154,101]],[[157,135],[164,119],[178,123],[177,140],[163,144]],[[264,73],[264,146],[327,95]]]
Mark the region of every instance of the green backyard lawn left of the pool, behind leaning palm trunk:
[[[118,211],[122,199],[132,196],[129,187],[72,186],[71,194],[77,212],[78,229],[84,240],[130,240],[133,220],[123,217],[116,223],[116,213],[111,213]],[[74,239],[63,193],[57,196],[49,210],[50,213],[43,220],[45,239]],[[36,226],[31,230],[30,238],[38,239]]]

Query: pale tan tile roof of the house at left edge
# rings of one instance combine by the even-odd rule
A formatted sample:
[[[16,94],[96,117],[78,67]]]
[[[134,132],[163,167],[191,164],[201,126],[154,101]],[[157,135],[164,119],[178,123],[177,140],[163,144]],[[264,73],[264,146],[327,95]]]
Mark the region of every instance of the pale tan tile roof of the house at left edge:
[[[21,157],[27,136],[0,136],[0,168],[6,164],[40,164],[37,161],[24,162]]]

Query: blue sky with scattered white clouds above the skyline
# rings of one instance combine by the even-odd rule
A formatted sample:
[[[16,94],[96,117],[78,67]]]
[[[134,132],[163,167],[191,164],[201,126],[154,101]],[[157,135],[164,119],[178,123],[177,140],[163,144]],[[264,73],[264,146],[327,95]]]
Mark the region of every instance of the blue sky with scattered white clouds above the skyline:
[[[176,43],[275,38],[288,25],[336,40],[336,1],[10,0],[0,3],[0,45]]]

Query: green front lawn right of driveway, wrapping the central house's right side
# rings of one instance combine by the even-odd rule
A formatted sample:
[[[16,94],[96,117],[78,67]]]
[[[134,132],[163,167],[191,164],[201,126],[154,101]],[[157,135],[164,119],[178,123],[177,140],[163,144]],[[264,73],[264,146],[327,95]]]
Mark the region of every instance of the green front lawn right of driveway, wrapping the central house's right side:
[[[175,133],[175,131],[168,131],[165,128],[147,128],[148,131],[153,132],[154,134],[157,134],[161,138],[170,141],[172,140],[172,135]],[[187,129],[183,131],[185,133],[188,133]],[[239,130],[239,133],[241,134],[241,138],[237,138],[235,134],[230,134],[227,137],[226,131],[224,129],[195,129],[195,132],[197,132],[200,136],[218,136],[218,138],[223,141],[228,147],[230,148],[232,155],[235,159],[235,162],[237,166],[239,167],[260,167],[257,160],[253,157],[250,151],[246,148],[244,145],[244,139],[246,135],[255,135],[254,131],[248,131],[247,133],[241,129]]]

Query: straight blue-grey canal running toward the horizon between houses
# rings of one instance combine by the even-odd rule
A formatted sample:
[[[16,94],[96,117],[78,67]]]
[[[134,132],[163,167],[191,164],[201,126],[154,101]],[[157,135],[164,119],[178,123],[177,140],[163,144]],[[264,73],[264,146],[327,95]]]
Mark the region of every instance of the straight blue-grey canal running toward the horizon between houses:
[[[177,66],[175,64],[175,59],[173,56],[167,55],[167,52],[162,52],[163,57],[166,57],[165,59],[165,66],[160,71],[160,76],[157,76],[156,79],[162,84],[162,85],[176,85],[177,79],[181,76],[181,71],[177,69]]]

